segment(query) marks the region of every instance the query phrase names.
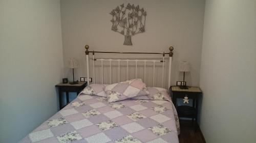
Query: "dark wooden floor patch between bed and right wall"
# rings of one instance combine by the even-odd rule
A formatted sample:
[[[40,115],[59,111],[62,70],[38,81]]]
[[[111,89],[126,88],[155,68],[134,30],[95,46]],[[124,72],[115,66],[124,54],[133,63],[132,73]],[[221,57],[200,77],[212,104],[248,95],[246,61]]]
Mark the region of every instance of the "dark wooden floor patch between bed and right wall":
[[[197,126],[197,129],[194,129],[191,121],[185,120],[180,120],[179,141],[180,143],[206,143],[200,128]]]

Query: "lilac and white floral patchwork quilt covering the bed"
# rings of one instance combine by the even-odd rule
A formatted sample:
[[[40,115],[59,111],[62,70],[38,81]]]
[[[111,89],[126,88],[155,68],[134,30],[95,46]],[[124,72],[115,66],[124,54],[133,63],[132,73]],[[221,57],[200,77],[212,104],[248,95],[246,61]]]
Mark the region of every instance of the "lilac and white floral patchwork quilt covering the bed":
[[[106,97],[80,94],[19,142],[179,142],[172,101],[142,99],[108,103]]]

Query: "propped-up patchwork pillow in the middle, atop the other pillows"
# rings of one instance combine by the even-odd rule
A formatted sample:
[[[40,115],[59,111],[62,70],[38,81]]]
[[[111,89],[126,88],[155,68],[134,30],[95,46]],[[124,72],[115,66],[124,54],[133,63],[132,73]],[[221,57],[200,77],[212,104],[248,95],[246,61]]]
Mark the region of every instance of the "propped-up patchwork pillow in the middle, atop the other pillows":
[[[132,79],[107,85],[105,92],[109,103],[148,94],[146,84],[141,79]]]

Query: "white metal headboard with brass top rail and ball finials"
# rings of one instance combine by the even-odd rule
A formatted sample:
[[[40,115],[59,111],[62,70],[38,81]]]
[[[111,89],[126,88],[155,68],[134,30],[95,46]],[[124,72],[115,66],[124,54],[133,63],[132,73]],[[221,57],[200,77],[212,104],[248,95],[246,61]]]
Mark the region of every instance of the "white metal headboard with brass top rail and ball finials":
[[[144,62],[144,82],[146,80],[146,63],[153,63],[153,87],[155,85],[155,64],[162,63],[162,88],[164,88],[164,55],[169,54],[169,66],[168,66],[168,88],[170,87],[170,75],[172,72],[172,59],[173,59],[173,50],[174,47],[169,47],[169,52],[106,52],[106,51],[89,51],[89,46],[84,46],[86,48],[86,64],[87,64],[87,77],[90,77],[90,65],[89,65],[89,53],[93,53],[93,82],[95,83],[95,61],[101,62],[101,83],[103,84],[103,61],[109,61],[110,63],[110,83],[112,84],[112,61],[118,62],[118,82],[120,82],[120,62],[126,62],[126,80],[129,80],[129,62],[135,62],[135,78],[137,78],[137,65],[138,62]],[[125,53],[125,54],[162,54],[162,60],[131,60],[131,59],[95,59],[95,53]],[[90,85],[90,82],[88,82]]]

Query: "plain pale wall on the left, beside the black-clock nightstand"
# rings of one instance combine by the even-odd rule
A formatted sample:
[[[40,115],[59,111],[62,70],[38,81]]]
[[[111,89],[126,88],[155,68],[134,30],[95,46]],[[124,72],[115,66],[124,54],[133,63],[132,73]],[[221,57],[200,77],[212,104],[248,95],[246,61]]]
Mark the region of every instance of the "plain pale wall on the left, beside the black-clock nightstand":
[[[58,108],[59,1],[0,1],[0,142],[17,142]]]

